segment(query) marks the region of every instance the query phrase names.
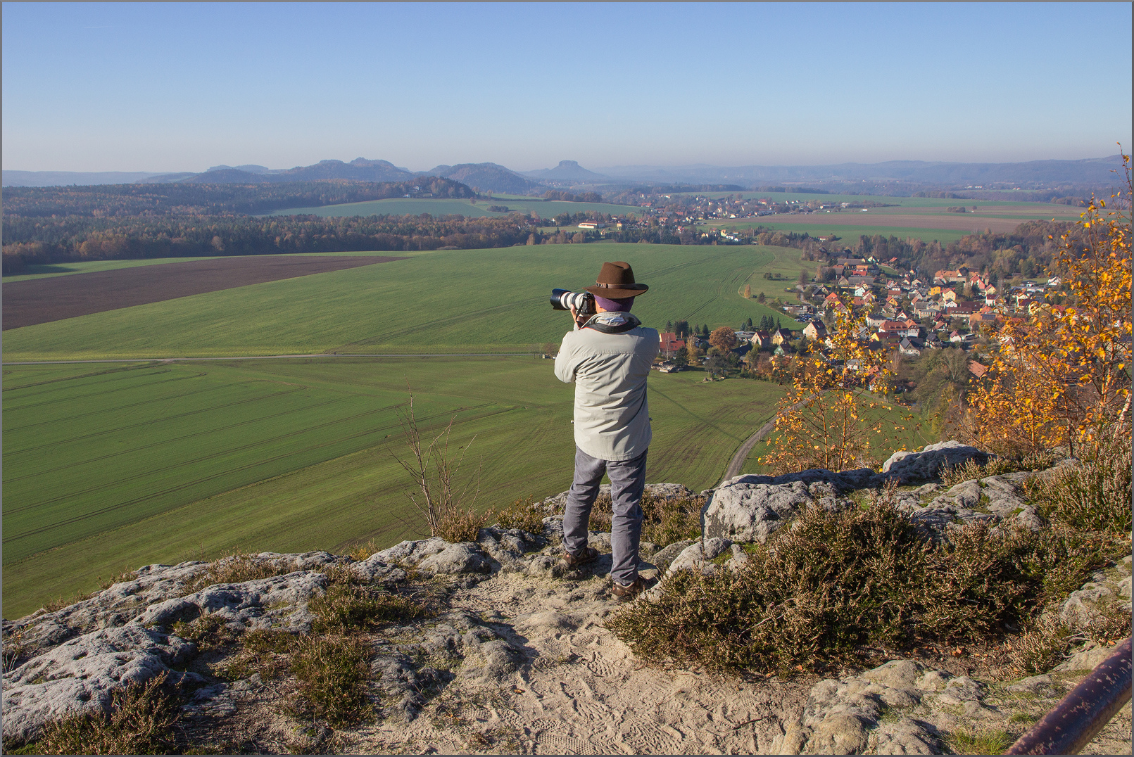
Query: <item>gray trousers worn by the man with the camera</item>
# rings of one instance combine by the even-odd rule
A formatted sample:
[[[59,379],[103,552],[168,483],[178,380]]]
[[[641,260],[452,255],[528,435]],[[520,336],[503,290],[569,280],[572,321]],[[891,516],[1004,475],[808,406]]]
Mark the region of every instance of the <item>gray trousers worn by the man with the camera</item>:
[[[648,450],[649,451],[649,450]],[[600,460],[575,448],[575,479],[564,512],[564,546],[572,554],[586,548],[591,508],[599,496],[602,474],[610,477],[612,503],[610,577],[626,586],[637,579],[638,542],[642,538],[642,492],[645,491],[645,456],[633,460]]]

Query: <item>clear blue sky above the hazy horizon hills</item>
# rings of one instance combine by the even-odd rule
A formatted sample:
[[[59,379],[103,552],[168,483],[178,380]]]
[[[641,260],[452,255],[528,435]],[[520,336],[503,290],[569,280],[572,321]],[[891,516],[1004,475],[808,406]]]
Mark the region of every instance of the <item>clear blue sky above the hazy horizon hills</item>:
[[[1122,3],[3,3],[3,168],[1099,158]]]

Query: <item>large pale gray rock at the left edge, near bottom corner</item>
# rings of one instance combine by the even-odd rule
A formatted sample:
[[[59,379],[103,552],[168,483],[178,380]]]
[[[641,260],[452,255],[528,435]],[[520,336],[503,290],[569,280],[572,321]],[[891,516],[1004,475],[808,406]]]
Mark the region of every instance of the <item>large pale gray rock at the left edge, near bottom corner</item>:
[[[167,674],[170,682],[201,680],[170,669],[195,647],[138,626],[108,628],[62,643],[3,677],[3,737],[36,738],[49,721],[110,706],[112,692]]]

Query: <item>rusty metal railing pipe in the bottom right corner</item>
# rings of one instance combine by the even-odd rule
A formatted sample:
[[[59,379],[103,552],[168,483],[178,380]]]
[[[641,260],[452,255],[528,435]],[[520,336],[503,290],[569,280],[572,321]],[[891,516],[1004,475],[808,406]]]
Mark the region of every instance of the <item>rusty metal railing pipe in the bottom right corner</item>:
[[[1077,755],[1129,700],[1131,640],[1126,639],[1004,754]]]

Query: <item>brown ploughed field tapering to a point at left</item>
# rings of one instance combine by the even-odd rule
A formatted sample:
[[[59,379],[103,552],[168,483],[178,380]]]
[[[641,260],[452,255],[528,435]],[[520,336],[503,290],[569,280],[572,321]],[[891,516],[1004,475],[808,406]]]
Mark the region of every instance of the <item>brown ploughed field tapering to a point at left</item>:
[[[3,330],[401,260],[388,255],[253,255],[18,281],[3,284]]]

